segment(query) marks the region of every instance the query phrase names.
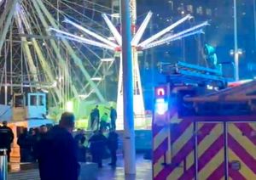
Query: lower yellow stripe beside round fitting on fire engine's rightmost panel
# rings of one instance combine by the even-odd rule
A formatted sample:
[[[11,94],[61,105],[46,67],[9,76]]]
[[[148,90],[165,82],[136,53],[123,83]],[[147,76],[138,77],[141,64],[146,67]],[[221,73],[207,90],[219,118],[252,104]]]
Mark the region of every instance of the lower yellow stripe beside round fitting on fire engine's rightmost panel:
[[[233,152],[232,149],[229,149],[229,161],[239,160],[241,163],[241,169],[239,172],[246,179],[256,179],[256,175],[252,172],[252,170],[245,164],[243,161]]]

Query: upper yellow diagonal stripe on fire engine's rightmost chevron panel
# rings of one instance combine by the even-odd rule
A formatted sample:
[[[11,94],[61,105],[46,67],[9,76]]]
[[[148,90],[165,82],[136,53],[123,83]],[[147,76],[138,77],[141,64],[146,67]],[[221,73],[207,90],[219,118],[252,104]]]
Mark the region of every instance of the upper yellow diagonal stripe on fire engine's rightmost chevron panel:
[[[229,133],[254,159],[256,159],[256,146],[246,136],[242,136],[241,131],[235,124],[229,124]]]

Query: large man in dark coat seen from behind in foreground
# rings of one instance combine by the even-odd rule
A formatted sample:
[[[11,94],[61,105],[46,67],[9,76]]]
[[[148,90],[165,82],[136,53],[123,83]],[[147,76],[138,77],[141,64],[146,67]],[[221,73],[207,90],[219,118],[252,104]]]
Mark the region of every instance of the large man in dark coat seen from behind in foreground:
[[[40,140],[38,164],[41,180],[77,180],[79,163],[73,139],[74,115],[65,112],[58,126]]]

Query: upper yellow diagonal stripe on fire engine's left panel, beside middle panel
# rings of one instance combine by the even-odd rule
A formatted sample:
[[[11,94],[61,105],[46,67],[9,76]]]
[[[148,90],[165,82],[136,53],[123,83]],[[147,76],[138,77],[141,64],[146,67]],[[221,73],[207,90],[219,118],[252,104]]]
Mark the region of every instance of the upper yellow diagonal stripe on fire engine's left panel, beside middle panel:
[[[193,123],[187,127],[183,134],[177,138],[177,141],[172,144],[172,155],[177,155],[180,149],[189,141],[189,138],[193,136]]]

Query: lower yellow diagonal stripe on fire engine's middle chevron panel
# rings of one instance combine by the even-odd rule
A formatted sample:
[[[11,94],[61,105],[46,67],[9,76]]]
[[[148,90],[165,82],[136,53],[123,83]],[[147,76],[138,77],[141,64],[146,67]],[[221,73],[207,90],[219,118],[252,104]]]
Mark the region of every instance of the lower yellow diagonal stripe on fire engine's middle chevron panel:
[[[212,172],[214,172],[218,166],[223,163],[224,160],[224,149],[218,151],[218,154],[212,157],[212,160],[207,162],[207,165],[198,173],[199,179],[207,179]]]

